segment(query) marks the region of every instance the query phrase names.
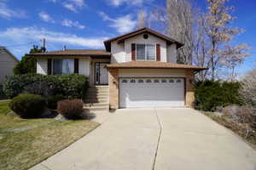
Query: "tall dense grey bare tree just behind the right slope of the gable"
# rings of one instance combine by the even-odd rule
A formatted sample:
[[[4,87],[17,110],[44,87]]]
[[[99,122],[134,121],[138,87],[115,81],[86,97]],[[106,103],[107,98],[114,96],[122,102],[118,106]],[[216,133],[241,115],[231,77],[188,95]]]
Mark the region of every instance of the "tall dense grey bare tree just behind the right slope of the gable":
[[[184,46],[177,51],[178,61],[191,64],[194,13],[188,0],[166,0],[166,32]]]

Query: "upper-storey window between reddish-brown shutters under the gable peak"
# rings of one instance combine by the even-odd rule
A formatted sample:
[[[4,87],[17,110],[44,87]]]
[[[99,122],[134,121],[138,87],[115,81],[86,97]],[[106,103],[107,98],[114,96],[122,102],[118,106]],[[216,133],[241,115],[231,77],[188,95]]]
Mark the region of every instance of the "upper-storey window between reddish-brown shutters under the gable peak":
[[[155,45],[136,44],[137,60],[155,60]]]

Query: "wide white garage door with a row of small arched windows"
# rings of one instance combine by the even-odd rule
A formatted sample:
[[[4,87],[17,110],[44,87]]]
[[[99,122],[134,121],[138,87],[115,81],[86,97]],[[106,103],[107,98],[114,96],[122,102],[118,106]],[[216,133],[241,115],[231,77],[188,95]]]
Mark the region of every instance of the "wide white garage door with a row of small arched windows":
[[[119,79],[120,108],[170,107],[183,105],[183,78]]]

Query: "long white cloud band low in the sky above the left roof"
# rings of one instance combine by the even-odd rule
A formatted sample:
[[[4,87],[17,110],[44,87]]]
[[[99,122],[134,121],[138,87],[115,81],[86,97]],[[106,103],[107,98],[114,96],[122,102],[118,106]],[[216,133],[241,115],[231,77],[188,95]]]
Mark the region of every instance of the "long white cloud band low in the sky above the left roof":
[[[103,41],[108,39],[108,37],[79,37],[74,34],[49,31],[38,27],[11,27],[5,31],[0,31],[0,38],[2,42],[9,42],[14,44],[39,41],[45,38],[46,42],[49,43],[86,48],[103,48]]]

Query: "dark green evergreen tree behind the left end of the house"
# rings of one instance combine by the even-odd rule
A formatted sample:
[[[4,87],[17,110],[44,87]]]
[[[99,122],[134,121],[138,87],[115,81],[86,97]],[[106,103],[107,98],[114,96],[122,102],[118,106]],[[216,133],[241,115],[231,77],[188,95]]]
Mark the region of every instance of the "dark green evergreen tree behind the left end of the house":
[[[29,54],[45,52],[46,48],[38,48],[38,46],[33,46]],[[37,72],[37,59],[33,56],[28,56],[25,54],[20,62],[15,65],[14,73],[15,75],[36,73]]]

